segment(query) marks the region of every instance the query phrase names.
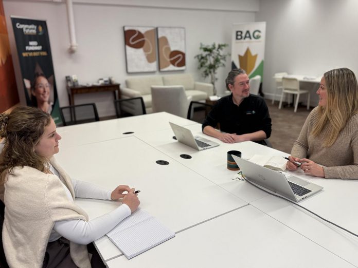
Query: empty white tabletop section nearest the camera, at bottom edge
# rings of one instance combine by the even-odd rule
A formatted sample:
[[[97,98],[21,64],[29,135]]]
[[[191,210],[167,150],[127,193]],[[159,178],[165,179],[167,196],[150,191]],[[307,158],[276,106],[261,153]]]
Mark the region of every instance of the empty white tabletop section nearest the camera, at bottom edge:
[[[114,267],[354,267],[253,206],[176,234]]]

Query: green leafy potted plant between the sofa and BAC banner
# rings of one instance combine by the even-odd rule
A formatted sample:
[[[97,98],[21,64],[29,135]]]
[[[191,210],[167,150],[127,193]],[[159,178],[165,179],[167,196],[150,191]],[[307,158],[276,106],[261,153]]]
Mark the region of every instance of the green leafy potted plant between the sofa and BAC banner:
[[[214,87],[214,95],[217,94],[215,88],[215,82],[218,80],[216,77],[217,70],[225,66],[226,57],[230,55],[230,53],[223,53],[227,46],[228,44],[216,45],[216,43],[213,43],[212,45],[203,45],[200,43],[200,50],[203,52],[194,57],[199,61],[198,69],[203,70],[203,76],[205,78],[210,76],[210,82]]]

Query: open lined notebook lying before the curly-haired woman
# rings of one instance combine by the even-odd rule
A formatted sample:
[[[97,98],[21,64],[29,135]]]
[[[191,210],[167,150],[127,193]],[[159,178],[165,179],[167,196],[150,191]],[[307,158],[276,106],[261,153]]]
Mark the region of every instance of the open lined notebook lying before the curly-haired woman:
[[[131,259],[173,238],[175,234],[145,210],[137,209],[106,236],[124,256]]]

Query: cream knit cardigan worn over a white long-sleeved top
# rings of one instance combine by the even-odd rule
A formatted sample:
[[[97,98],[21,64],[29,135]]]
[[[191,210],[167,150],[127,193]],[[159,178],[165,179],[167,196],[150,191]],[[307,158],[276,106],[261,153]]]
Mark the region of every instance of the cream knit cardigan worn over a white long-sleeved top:
[[[71,179],[51,159],[74,198]],[[87,214],[68,200],[59,178],[25,166],[16,167],[5,183],[3,244],[10,267],[42,267],[48,239],[56,221],[88,220]],[[79,267],[91,267],[86,245],[70,242],[70,254]]]

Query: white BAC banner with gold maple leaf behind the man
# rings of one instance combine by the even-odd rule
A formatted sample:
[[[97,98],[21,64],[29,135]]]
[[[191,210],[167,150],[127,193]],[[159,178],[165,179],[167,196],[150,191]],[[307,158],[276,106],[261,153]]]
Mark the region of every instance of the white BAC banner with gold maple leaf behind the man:
[[[231,67],[244,69],[249,78],[263,76],[266,22],[232,25]]]

